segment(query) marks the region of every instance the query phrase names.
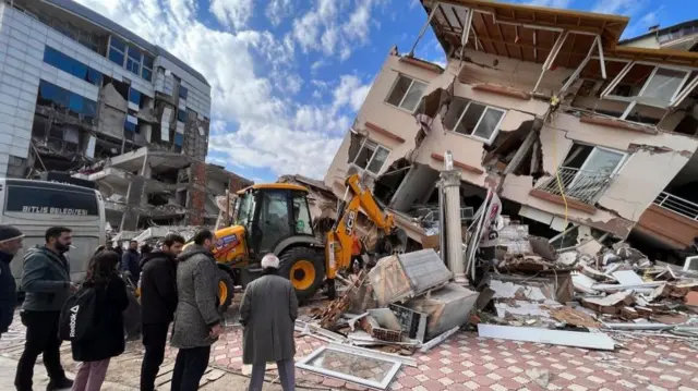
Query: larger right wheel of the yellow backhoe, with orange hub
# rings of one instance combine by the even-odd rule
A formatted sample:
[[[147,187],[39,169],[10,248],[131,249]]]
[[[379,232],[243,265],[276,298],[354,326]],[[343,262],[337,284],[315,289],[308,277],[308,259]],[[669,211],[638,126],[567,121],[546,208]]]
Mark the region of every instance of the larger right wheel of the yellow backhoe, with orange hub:
[[[325,279],[325,260],[309,247],[293,247],[279,257],[279,276],[287,278],[296,289],[300,303],[305,303],[315,295]]]

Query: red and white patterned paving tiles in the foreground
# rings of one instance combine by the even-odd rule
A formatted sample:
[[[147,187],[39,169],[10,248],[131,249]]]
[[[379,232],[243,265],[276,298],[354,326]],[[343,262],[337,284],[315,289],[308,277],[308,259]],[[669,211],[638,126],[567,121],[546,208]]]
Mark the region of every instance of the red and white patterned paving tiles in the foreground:
[[[229,327],[224,338],[214,345],[212,365],[244,372],[241,337],[242,332],[238,327]],[[426,354],[417,353],[413,357],[419,367],[402,367],[390,389],[698,391],[698,340],[624,337],[617,333],[612,337],[622,346],[615,352],[595,352],[480,339],[474,332],[460,332]],[[22,338],[22,326],[15,322],[12,331],[2,335],[0,353],[16,345]],[[303,357],[323,344],[324,342],[313,337],[298,335],[297,357]],[[173,358],[174,355],[174,350],[168,350],[169,357]],[[357,370],[364,369],[362,367]],[[531,380],[529,374],[532,370],[547,371],[550,381],[545,388]],[[269,376],[275,377],[275,371],[269,370]],[[297,376],[299,383],[306,386],[364,389],[300,370]]]

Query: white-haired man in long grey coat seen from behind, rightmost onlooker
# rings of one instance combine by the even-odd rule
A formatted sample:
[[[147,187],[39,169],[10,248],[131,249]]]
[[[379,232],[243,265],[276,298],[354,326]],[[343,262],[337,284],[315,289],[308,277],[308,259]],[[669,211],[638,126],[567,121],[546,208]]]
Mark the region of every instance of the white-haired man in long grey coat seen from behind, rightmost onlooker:
[[[276,363],[284,391],[294,390],[296,340],[293,326],[298,317],[298,300],[291,282],[277,276],[279,258],[267,254],[262,258],[262,277],[244,291],[240,305],[240,322],[244,326],[242,362],[252,364],[250,391],[261,391],[266,363]]]

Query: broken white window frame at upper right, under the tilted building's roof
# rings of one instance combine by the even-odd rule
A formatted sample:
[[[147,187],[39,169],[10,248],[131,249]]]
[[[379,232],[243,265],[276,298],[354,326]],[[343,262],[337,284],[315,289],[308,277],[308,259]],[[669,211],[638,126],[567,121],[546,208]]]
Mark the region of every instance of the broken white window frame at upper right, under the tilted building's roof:
[[[623,112],[623,115],[621,115],[621,120],[624,120],[624,121],[627,121],[626,120],[627,117],[633,112],[633,109],[638,103],[639,105],[643,105],[643,106],[655,107],[655,108],[659,108],[659,109],[667,109],[667,108],[672,107],[673,105],[675,105],[676,99],[679,96],[682,96],[682,93],[684,91],[684,87],[686,86],[686,84],[688,82],[688,78],[690,77],[691,73],[695,71],[695,70],[693,70],[690,68],[657,64],[657,63],[647,62],[647,61],[629,61],[629,60],[611,59],[611,58],[607,59],[607,60],[609,61],[626,62],[625,68],[615,76],[615,78],[613,78],[613,81],[611,81],[611,83],[600,94],[600,98],[601,99],[616,100],[616,101],[622,101],[622,102],[629,103],[628,107]],[[642,88],[640,88],[639,93],[637,95],[635,95],[635,96],[631,96],[631,97],[623,97],[623,96],[610,95],[615,89],[615,87],[618,84],[621,84],[621,82],[625,78],[625,76],[630,72],[630,70],[633,70],[633,66],[635,66],[636,64],[654,66],[654,69],[650,73],[649,77],[645,81],[645,83],[642,85]],[[659,105],[655,101],[647,101],[642,97],[642,95],[647,90],[647,87],[652,82],[652,78],[655,76],[655,74],[657,74],[659,69],[664,69],[664,70],[677,71],[677,72],[684,72],[685,73],[685,75],[682,78],[681,83],[676,87],[676,90],[674,91],[674,94],[672,95],[670,101],[665,106]],[[628,121],[628,122],[631,122],[631,121]]]

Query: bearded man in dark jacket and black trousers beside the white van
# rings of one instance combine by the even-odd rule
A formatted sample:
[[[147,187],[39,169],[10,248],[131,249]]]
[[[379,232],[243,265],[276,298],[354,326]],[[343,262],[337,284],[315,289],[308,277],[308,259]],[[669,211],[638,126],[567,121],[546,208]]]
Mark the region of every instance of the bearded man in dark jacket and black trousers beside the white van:
[[[32,390],[34,365],[39,354],[50,378],[47,391],[70,388],[60,362],[61,340],[58,323],[69,294],[77,290],[70,282],[70,265],[64,254],[72,243],[71,230],[51,227],[46,230],[46,245],[29,248],[24,256],[22,290],[26,292],[20,317],[26,326],[24,352],[17,364],[14,386],[17,391]]]

